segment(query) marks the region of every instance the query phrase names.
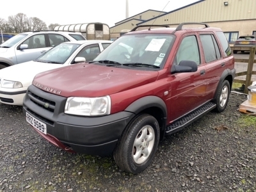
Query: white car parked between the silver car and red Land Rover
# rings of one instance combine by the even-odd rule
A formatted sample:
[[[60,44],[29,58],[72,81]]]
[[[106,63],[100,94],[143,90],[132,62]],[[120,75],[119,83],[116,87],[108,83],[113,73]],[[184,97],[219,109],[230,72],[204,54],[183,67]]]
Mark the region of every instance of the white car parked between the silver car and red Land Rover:
[[[113,41],[81,40],[65,42],[33,61],[20,63],[0,70],[0,102],[22,106],[24,96],[33,78],[40,72],[92,61]]]

